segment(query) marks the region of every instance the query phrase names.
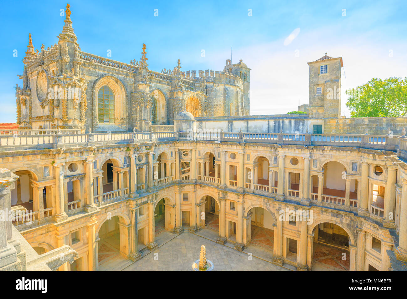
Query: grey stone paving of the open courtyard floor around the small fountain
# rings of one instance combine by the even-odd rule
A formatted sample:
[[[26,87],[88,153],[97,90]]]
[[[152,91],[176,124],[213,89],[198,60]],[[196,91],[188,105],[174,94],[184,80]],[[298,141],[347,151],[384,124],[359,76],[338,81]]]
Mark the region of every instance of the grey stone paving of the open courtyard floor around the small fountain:
[[[201,245],[206,247],[206,258],[214,263],[214,271],[288,271],[255,257],[249,260],[247,253],[188,232],[173,238],[123,271],[192,271],[192,263],[199,258]]]

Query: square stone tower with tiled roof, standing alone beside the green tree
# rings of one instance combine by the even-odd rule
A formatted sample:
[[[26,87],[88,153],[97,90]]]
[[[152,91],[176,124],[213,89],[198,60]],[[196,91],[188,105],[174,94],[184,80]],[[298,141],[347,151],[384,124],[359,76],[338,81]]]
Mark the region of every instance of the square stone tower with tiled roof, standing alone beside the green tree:
[[[313,118],[338,118],[341,114],[342,57],[328,55],[309,62],[309,107]]]

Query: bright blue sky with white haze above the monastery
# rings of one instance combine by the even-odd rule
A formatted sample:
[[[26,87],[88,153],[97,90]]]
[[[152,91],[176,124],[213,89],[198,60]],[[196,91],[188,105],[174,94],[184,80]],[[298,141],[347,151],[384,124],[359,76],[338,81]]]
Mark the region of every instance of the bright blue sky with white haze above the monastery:
[[[0,122],[15,122],[15,84],[22,85],[28,44],[57,43],[66,1],[2,2]],[[149,68],[160,72],[223,70],[239,59],[251,71],[251,114],[280,114],[308,103],[309,69],[322,56],[343,57],[344,91],[373,77],[407,76],[405,1],[70,1],[81,50],[128,63],[147,45]],[[158,16],[154,16],[158,9]],[[249,16],[248,10],[252,10]],[[343,16],[346,9],[346,16]],[[299,29],[297,29],[299,28]],[[284,40],[295,31],[288,44]],[[18,56],[13,57],[17,50]],[[201,57],[205,50],[205,57]],[[392,55],[389,55],[392,53]],[[342,72],[344,74],[344,72]]]

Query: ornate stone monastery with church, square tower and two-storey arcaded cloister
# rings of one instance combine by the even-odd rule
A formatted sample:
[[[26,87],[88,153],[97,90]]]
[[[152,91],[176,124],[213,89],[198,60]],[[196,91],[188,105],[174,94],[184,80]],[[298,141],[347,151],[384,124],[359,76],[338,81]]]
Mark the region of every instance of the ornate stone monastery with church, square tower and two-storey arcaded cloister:
[[[0,270],[102,270],[109,246],[137,266],[183,232],[291,270],[406,270],[407,118],[340,117],[342,57],[308,63],[306,114],[250,116],[242,60],[155,72],[145,45],[83,52],[70,16],[54,46],[29,36],[0,133]]]

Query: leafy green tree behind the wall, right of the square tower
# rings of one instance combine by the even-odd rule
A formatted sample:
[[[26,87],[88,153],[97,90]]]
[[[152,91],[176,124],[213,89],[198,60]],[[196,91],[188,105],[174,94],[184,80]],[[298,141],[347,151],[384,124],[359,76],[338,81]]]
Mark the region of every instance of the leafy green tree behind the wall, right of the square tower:
[[[356,89],[346,90],[351,117],[406,116],[407,77],[373,78]]]

